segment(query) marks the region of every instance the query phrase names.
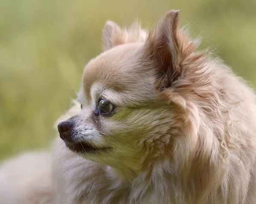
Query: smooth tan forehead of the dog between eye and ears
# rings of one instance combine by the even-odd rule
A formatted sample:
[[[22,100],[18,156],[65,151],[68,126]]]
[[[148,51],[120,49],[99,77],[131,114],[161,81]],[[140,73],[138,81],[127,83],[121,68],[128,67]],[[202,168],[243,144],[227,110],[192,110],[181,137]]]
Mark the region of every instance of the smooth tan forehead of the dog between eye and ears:
[[[141,62],[141,43],[131,43],[117,46],[102,53],[84,69],[83,90],[87,96],[93,84],[102,86],[117,92],[129,90],[135,84],[142,84],[143,78],[147,78],[146,67]]]

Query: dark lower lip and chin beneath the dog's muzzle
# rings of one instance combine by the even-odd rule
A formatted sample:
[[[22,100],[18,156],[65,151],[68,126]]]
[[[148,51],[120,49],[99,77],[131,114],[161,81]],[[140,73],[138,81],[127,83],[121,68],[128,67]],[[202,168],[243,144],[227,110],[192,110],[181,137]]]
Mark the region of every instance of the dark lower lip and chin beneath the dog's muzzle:
[[[101,154],[105,152],[111,152],[111,147],[94,147],[86,142],[77,142],[77,143],[69,143],[65,142],[68,149],[75,153],[82,153],[82,154]]]

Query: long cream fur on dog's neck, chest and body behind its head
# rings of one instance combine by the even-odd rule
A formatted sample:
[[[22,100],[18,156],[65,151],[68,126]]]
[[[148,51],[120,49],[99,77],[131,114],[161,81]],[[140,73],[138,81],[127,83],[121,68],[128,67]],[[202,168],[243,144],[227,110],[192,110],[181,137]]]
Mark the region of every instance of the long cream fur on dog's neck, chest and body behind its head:
[[[86,161],[58,142],[54,156],[57,203],[253,203],[254,94],[221,62],[211,61],[206,67],[202,75],[210,75],[210,80],[201,92],[183,93],[191,101],[183,110],[188,119],[180,129],[157,138],[160,143],[172,141],[165,147],[169,153],[148,152],[140,173],[129,179],[125,178],[130,172]],[[169,90],[166,97],[170,94]],[[238,101],[238,95],[243,100]],[[195,101],[198,106],[193,106]],[[64,117],[77,112],[78,103]]]

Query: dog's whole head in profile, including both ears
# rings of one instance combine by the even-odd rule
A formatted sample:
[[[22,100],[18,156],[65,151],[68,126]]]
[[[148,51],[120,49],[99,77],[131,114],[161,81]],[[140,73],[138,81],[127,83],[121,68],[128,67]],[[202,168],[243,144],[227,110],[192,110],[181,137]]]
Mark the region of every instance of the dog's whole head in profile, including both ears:
[[[149,157],[172,148],[183,122],[180,109],[186,106],[172,85],[192,54],[185,56],[180,40],[193,45],[178,28],[178,14],[166,14],[145,42],[140,29],[106,23],[105,52],[84,69],[81,112],[58,125],[69,149],[92,161],[139,171]]]

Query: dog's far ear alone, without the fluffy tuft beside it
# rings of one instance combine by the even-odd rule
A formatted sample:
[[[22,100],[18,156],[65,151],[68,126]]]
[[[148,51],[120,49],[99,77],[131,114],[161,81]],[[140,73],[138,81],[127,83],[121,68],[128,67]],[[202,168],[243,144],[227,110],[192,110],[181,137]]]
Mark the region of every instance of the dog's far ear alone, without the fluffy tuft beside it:
[[[108,20],[103,29],[103,50],[122,45],[126,41],[127,32],[121,29],[115,22]]]

